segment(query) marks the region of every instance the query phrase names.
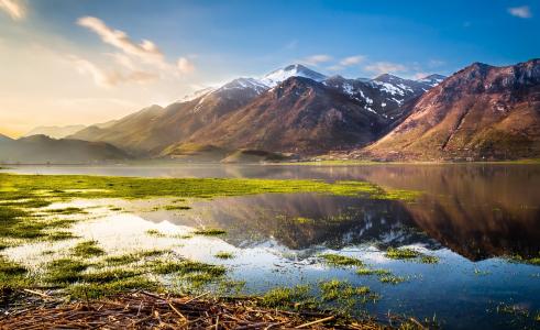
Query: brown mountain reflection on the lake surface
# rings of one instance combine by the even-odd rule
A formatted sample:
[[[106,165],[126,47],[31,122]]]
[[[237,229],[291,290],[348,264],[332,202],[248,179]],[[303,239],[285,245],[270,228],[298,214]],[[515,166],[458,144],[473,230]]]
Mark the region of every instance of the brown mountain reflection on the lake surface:
[[[420,190],[415,204],[322,195],[262,195],[197,202],[194,210],[145,218],[219,227],[236,246],[268,240],[294,250],[318,245],[447,246],[472,261],[540,251],[540,166],[447,165],[164,165],[18,167],[10,172],[156,177],[360,179],[383,188]]]

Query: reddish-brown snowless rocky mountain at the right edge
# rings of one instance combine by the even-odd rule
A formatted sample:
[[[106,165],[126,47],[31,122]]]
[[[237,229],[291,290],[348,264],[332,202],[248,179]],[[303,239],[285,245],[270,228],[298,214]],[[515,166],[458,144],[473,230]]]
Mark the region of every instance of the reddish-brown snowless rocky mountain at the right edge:
[[[540,156],[540,59],[507,67],[475,63],[458,72],[423,95],[390,133],[356,154],[386,160]]]

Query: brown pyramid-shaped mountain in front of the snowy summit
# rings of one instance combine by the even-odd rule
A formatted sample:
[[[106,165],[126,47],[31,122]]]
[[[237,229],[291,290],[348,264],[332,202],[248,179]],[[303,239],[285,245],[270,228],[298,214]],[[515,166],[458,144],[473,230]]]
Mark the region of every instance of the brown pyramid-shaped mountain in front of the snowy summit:
[[[387,122],[323,84],[291,77],[197,131],[190,142],[313,154],[375,140]]]

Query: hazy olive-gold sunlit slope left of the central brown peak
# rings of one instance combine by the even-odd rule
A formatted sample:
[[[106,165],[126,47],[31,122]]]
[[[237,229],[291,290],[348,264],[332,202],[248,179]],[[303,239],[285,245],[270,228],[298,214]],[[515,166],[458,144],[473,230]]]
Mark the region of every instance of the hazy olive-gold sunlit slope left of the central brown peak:
[[[196,99],[166,108],[152,106],[106,129],[90,127],[70,138],[103,141],[133,153],[157,155],[167,146],[185,141],[197,130],[245,106],[265,90],[258,86],[247,88],[247,84],[249,79],[235,79]]]

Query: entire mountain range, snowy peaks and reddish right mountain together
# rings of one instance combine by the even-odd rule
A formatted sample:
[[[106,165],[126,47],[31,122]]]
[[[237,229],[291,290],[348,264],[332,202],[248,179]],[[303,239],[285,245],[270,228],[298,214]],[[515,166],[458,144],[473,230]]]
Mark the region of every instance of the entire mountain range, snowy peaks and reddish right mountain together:
[[[535,157],[539,82],[539,59],[506,67],[475,63],[448,78],[417,80],[329,77],[295,64],[67,138],[137,157],[205,161],[329,153],[385,161]]]

